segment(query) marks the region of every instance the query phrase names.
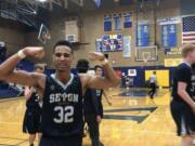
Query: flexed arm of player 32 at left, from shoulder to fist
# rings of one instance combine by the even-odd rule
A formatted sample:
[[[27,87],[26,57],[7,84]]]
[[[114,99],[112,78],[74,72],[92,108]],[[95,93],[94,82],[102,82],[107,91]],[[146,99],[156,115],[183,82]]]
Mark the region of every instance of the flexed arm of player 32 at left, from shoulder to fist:
[[[12,55],[10,58],[8,58],[0,65],[0,80],[36,88],[41,87],[43,89],[46,80],[44,75],[37,72],[27,72],[23,70],[14,70],[15,66],[24,57],[42,57],[43,54],[43,48],[38,47],[28,47],[18,51],[16,54]]]

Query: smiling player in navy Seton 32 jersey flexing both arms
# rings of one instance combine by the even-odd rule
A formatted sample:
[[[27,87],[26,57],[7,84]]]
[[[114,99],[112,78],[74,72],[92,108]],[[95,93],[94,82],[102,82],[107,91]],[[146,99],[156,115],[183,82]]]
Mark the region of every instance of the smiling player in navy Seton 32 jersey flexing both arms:
[[[116,87],[120,80],[100,52],[90,53],[92,61],[103,65],[105,78],[90,75],[74,76],[70,65],[73,47],[58,41],[53,48],[55,74],[46,76],[37,72],[14,71],[16,64],[26,56],[41,57],[42,48],[25,48],[0,65],[0,79],[35,87],[43,95],[41,115],[42,137],[40,146],[81,146],[82,142],[82,95],[88,88]]]

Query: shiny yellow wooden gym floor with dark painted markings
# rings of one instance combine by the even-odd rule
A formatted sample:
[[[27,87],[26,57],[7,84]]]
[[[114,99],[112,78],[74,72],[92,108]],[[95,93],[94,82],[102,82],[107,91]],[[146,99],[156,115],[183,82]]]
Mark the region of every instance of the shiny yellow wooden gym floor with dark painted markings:
[[[105,119],[101,141],[105,146],[179,146],[176,127],[169,111],[170,91],[158,90],[154,99],[143,89],[107,91],[112,106],[103,101]],[[24,97],[0,99],[0,145],[28,146],[22,133]],[[90,146],[89,135],[83,146]]]

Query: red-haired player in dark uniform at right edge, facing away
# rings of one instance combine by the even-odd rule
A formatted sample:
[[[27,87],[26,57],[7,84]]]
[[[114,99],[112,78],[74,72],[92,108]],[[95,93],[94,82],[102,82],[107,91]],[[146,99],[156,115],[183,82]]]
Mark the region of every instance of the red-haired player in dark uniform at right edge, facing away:
[[[171,114],[177,124],[181,146],[191,146],[195,134],[195,102],[192,96],[191,64],[195,63],[195,45],[186,44],[182,49],[183,63],[173,76]]]

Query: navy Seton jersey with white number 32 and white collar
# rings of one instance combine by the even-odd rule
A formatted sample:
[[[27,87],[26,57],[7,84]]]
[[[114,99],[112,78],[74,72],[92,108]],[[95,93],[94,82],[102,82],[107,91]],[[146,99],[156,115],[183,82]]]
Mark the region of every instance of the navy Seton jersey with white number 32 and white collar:
[[[78,76],[70,75],[64,84],[55,75],[47,77],[41,131],[46,136],[68,137],[82,134],[82,87]]]

